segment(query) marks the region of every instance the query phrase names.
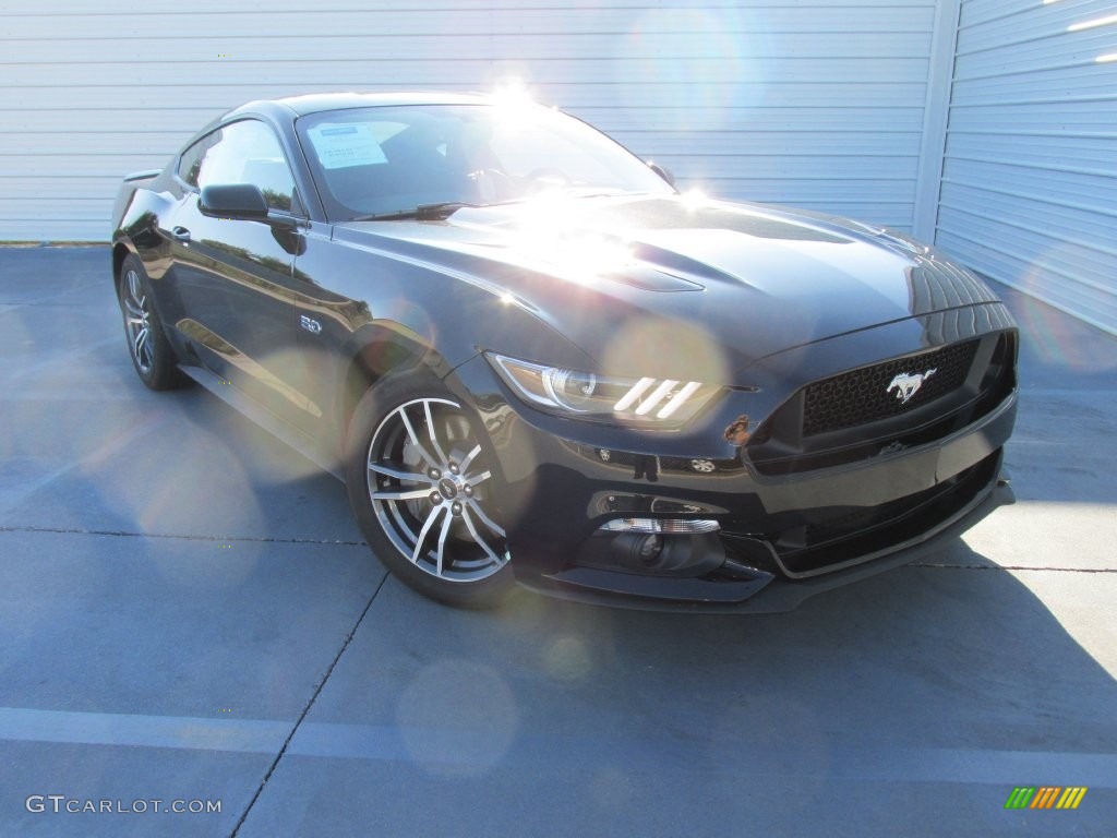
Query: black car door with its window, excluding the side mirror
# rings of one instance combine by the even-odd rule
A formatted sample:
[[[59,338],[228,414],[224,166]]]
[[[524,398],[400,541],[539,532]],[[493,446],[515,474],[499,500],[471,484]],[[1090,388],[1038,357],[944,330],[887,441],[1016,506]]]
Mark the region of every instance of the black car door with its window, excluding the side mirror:
[[[316,408],[290,381],[305,219],[281,145],[264,122],[233,122],[188,149],[179,177],[188,189],[169,222],[169,273],[184,313],[179,330],[229,385],[305,425],[300,415]],[[214,218],[199,209],[202,188],[232,183],[259,187],[273,217]]]

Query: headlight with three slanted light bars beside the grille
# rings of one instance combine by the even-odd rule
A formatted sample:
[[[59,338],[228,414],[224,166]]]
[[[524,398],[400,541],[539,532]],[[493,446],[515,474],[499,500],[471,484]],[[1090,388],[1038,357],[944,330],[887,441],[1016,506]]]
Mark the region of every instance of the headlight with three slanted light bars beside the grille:
[[[720,388],[698,381],[608,378],[495,353],[486,358],[528,403],[551,413],[591,421],[678,428],[720,392]]]

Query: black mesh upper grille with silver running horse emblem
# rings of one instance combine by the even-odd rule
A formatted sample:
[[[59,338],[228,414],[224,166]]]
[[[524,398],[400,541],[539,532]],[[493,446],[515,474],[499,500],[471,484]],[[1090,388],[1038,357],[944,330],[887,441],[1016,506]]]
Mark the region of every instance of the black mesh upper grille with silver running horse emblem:
[[[976,352],[977,341],[967,341],[815,381],[803,391],[803,436],[888,419],[953,392],[966,380]],[[897,394],[899,385],[889,389],[898,377],[928,370],[935,372],[907,402]]]

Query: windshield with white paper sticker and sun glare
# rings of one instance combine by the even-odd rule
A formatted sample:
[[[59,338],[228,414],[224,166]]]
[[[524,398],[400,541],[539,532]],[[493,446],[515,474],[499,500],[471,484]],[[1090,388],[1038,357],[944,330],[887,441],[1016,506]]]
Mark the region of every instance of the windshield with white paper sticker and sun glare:
[[[302,117],[299,141],[332,221],[560,191],[671,193],[639,158],[540,105],[414,105]]]

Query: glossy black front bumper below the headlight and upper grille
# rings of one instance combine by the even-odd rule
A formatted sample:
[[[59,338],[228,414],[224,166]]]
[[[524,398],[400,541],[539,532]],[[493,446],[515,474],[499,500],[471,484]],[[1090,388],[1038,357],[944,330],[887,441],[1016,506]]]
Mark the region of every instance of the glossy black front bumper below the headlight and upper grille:
[[[743,393],[731,393],[688,435],[637,436],[521,404],[481,358],[458,374],[500,466],[499,506],[517,580],[572,600],[786,611],[939,550],[1013,499],[1002,460],[1015,390],[933,442],[773,476],[726,441],[727,426],[747,411]],[[719,528],[663,535],[658,558],[643,562],[647,536],[602,528],[623,518]]]

